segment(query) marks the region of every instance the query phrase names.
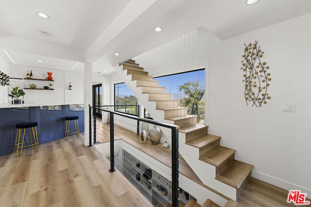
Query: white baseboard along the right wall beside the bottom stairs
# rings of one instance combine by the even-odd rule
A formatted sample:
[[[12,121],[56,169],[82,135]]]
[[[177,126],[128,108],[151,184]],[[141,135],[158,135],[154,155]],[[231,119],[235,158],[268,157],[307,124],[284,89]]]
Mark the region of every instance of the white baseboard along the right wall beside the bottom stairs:
[[[252,177],[255,177],[259,180],[262,180],[266,183],[270,183],[276,187],[285,189],[287,191],[300,190],[302,193],[307,193],[307,198],[311,199],[311,189],[307,189],[305,187],[298,186],[294,183],[290,183],[290,182],[287,182],[285,180],[281,180],[281,179],[273,177],[271,175],[260,173],[258,171],[254,171],[254,170],[252,171]]]

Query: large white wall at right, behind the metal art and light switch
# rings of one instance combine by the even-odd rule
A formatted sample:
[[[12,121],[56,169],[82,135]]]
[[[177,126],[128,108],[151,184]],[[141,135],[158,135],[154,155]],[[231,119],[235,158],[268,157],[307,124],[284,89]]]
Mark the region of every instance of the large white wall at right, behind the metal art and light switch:
[[[212,48],[209,71],[209,133],[254,164],[253,176],[311,196],[311,15],[301,16],[223,41]],[[271,99],[246,106],[242,82],[243,44],[259,41],[261,61],[270,66]],[[211,50],[206,49],[205,53]],[[207,55],[208,57],[208,55]],[[296,111],[282,112],[282,103]]]

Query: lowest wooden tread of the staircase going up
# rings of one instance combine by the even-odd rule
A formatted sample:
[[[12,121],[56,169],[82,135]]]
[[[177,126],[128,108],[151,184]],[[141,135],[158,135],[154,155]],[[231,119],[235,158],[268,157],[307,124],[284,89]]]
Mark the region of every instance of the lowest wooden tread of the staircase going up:
[[[216,175],[216,179],[239,189],[243,181],[251,173],[253,167],[254,165],[247,164],[239,160],[233,160],[224,171],[222,171],[219,175]]]

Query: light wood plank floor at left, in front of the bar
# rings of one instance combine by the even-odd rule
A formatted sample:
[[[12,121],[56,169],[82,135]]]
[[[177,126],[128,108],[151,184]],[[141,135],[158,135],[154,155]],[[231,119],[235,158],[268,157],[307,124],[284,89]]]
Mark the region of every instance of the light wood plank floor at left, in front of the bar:
[[[152,207],[110,162],[75,136],[0,157],[2,207]]]

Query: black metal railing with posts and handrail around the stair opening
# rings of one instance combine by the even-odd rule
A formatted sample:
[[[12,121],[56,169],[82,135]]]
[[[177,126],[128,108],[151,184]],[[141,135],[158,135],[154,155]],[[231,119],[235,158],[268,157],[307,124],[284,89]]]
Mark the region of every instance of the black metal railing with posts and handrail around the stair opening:
[[[134,115],[129,115],[117,111],[109,111],[106,109],[101,109],[97,107],[92,107],[91,105],[88,105],[89,107],[89,146],[92,146],[92,109],[93,111],[95,110],[100,110],[100,111],[105,111],[108,112],[110,115],[110,169],[109,172],[112,173],[115,170],[114,167],[114,115],[119,115],[123,116],[126,118],[134,119],[137,120],[138,123],[139,121],[141,122],[146,122],[149,124],[154,124],[160,127],[167,127],[172,130],[172,206],[173,207],[179,207],[179,188],[178,188],[178,177],[179,177],[179,153],[178,153],[178,131],[179,131],[179,126],[176,125],[171,125],[171,124],[166,124],[162,122],[157,122],[151,119],[145,119],[145,118],[140,118],[139,114],[138,116]],[[139,110],[138,110],[139,111]],[[95,113],[94,113],[95,114]],[[96,131],[96,116],[94,115],[94,130]],[[138,134],[139,134],[139,124],[138,124]]]

